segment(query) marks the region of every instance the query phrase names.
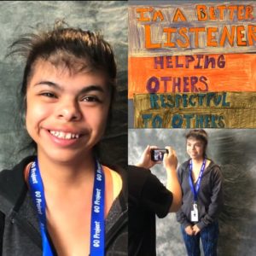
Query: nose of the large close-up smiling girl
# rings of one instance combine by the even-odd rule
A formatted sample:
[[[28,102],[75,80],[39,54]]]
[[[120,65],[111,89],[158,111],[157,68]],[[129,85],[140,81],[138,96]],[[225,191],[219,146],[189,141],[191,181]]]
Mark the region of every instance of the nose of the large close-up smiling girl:
[[[57,110],[57,118],[66,121],[77,121],[81,119],[81,111],[77,102],[66,102]]]

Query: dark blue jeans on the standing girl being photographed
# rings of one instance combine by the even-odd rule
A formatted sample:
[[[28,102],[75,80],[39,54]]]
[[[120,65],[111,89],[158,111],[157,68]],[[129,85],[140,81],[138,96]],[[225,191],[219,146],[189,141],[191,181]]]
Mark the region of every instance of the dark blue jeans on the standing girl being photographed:
[[[200,238],[205,256],[217,256],[218,222],[208,225],[196,236],[189,236],[183,227],[181,230],[189,256],[200,256]]]

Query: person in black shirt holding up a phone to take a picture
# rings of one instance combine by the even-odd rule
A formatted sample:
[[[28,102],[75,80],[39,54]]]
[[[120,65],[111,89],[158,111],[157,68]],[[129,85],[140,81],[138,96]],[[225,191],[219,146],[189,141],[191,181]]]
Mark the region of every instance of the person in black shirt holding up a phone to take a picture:
[[[132,256],[155,256],[155,214],[164,218],[168,212],[177,212],[181,206],[181,188],[177,179],[177,156],[166,147],[162,161],[152,156],[155,146],[145,148],[136,166],[128,166],[129,238],[128,251]],[[163,163],[166,169],[166,187],[149,168]]]

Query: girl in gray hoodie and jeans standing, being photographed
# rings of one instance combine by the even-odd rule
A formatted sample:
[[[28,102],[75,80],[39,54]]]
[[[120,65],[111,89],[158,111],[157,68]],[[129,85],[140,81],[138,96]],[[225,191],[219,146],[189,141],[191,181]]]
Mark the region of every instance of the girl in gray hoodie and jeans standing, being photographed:
[[[182,188],[182,207],[177,212],[189,256],[199,256],[200,239],[205,255],[217,255],[218,214],[224,204],[220,167],[207,158],[207,132],[191,130],[186,135],[186,160],[177,170]]]

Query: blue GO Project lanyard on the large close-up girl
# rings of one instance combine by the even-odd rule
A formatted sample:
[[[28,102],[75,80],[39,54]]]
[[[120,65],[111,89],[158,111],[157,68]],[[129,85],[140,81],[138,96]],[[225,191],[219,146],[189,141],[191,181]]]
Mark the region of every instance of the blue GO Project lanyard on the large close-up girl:
[[[32,201],[37,208],[43,244],[43,256],[53,256],[47,236],[44,184],[40,175],[38,159],[32,162],[28,174],[28,183],[32,193]],[[91,221],[90,221],[90,256],[104,256],[104,206],[105,206],[105,178],[102,166],[96,161],[94,178]]]

